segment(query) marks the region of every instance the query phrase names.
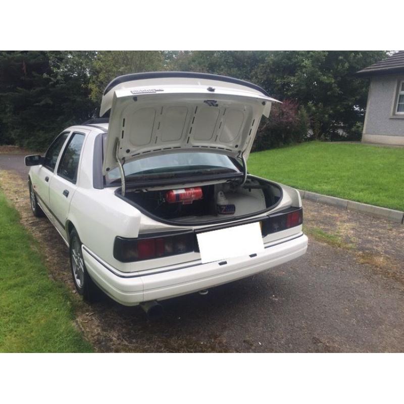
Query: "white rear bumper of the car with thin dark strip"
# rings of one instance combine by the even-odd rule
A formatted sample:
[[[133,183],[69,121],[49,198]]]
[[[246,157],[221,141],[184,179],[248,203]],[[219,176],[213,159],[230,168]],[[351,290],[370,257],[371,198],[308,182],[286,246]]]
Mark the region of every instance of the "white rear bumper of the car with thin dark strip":
[[[208,264],[196,261],[177,266],[178,269],[161,268],[161,272],[149,275],[137,272],[130,277],[127,273],[112,272],[85,247],[83,258],[88,273],[100,288],[122,305],[135,306],[142,301],[180,296],[254,275],[304,255],[307,244],[307,236],[301,233],[293,239],[265,245],[265,250],[255,257],[230,258],[222,265],[219,262],[223,261]]]

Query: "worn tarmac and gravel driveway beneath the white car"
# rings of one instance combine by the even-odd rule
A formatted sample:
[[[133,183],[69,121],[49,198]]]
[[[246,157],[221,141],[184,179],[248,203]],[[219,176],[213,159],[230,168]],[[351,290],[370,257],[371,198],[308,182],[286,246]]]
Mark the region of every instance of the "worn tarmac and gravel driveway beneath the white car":
[[[254,277],[163,302],[150,322],[108,298],[74,292],[68,251],[31,215],[23,156],[0,154],[0,184],[39,240],[49,276],[72,293],[85,337],[103,351],[400,352],[404,350],[404,226],[304,201],[306,256]],[[4,171],[8,170],[8,171]]]

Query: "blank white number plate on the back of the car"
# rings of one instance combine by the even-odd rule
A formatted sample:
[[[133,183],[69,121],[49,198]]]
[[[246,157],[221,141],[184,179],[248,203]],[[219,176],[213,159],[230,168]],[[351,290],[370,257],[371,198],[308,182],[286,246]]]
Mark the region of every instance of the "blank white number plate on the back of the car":
[[[199,233],[196,238],[204,264],[264,251],[259,222]]]

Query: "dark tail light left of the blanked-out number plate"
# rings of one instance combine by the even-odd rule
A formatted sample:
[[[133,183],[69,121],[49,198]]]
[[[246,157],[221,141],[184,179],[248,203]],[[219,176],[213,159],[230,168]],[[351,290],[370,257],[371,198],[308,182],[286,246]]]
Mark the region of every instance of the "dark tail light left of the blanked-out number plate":
[[[164,237],[115,237],[114,257],[121,262],[133,262],[184,254],[194,251],[194,240],[193,232]]]

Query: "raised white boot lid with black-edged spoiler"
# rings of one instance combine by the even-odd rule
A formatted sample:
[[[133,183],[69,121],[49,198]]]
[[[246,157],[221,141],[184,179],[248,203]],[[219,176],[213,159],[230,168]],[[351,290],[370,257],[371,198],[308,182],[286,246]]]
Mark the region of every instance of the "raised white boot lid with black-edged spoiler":
[[[110,111],[103,173],[145,156],[210,151],[247,159],[261,116],[277,102],[262,88],[202,73],[120,76],[107,87]]]

